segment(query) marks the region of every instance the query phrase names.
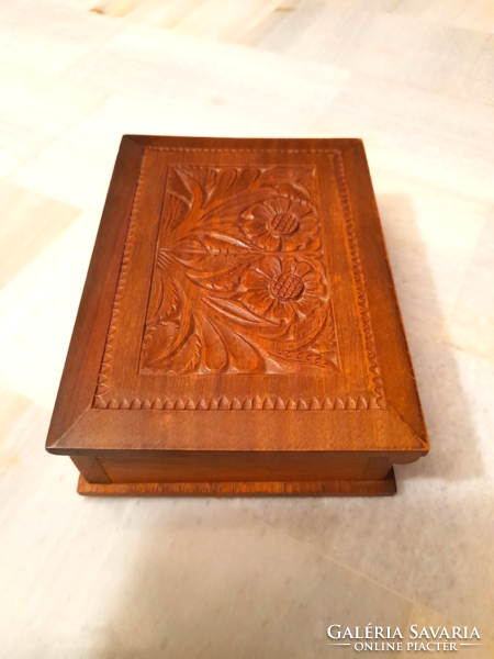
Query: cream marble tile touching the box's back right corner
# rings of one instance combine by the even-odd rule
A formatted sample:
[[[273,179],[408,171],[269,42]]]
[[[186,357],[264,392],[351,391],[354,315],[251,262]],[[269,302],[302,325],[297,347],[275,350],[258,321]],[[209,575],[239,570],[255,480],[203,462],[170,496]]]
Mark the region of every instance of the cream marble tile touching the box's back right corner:
[[[356,75],[310,134],[361,137],[372,170],[494,201],[490,105]]]

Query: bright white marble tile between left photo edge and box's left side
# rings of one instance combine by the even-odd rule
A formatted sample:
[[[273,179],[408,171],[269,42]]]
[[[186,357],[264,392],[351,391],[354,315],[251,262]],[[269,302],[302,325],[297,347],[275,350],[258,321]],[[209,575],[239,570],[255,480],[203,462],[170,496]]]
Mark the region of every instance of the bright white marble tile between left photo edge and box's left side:
[[[48,409],[58,390],[98,223],[99,214],[79,215],[0,290],[0,383]]]

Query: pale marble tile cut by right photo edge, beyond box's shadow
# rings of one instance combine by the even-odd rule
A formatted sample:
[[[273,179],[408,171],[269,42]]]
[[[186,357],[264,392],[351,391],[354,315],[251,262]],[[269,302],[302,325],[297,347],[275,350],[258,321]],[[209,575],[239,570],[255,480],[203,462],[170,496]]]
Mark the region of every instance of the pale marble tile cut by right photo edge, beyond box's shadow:
[[[473,252],[441,336],[450,344],[494,361],[494,209]]]

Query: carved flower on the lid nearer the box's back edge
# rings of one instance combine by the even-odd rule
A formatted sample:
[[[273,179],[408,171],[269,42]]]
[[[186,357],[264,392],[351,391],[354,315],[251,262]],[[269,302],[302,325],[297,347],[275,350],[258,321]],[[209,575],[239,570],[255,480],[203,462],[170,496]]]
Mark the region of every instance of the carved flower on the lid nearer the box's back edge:
[[[250,206],[242,215],[244,233],[269,252],[305,247],[317,233],[311,209],[296,199],[276,197]]]

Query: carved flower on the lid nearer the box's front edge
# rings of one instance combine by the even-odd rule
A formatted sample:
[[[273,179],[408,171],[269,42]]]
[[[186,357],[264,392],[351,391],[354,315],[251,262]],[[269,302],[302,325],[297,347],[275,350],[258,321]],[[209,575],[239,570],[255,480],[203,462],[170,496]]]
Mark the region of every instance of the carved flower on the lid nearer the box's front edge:
[[[277,321],[307,316],[327,294],[316,265],[294,257],[266,258],[246,270],[242,281],[244,304],[254,313]]]

